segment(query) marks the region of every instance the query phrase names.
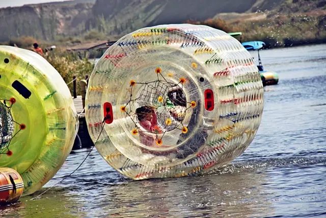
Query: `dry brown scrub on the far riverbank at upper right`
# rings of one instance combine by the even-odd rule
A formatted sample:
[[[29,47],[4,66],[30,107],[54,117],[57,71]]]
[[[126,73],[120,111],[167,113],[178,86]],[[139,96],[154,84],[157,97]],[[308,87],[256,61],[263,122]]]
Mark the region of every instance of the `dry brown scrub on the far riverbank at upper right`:
[[[308,43],[326,42],[326,11],[316,10],[309,13],[290,15],[261,13],[262,19],[219,18],[188,23],[207,25],[225,32],[242,32],[242,41],[260,40],[269,47],[293,46]],[[259,13],[258,13],[259,16]]]

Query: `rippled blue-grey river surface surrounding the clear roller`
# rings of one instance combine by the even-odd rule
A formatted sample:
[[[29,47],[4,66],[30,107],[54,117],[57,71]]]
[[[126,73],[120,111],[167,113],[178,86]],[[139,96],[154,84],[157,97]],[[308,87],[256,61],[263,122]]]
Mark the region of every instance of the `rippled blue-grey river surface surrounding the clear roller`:
[[[0,217],[326,217],[326,45],[261,51],[278,85],[265,87],[251,146],[205,176],[132,181],[94,149],[72,153],[33,196]],[[257,53],[252,55],[257,60]]]

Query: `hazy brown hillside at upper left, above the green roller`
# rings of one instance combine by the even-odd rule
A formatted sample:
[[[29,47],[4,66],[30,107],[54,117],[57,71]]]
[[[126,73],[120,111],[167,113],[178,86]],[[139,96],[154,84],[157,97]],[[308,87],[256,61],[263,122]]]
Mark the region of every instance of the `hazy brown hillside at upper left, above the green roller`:
[[[74,35],[85,30],[94,3],[49,3],[0,9],[0,41],[32,36],[56,40],[58,35]]]

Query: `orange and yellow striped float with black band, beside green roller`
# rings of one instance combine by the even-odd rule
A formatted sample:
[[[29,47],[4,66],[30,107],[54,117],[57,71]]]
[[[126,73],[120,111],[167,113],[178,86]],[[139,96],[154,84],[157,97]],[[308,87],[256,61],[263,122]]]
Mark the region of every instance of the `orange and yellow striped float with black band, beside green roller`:
[[[14,203],[24,190],[20,175],[12,168],[0,168],[0,204]]]

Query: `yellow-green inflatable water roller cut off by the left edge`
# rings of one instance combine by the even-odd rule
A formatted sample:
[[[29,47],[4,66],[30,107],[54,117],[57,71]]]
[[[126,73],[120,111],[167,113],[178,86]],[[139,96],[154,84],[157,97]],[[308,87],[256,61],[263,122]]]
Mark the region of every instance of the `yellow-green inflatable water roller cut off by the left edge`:
[[[43,57],[0,46],[0,167],[15,169],[29,195],[69,155],[78,130],[71,93]]]

